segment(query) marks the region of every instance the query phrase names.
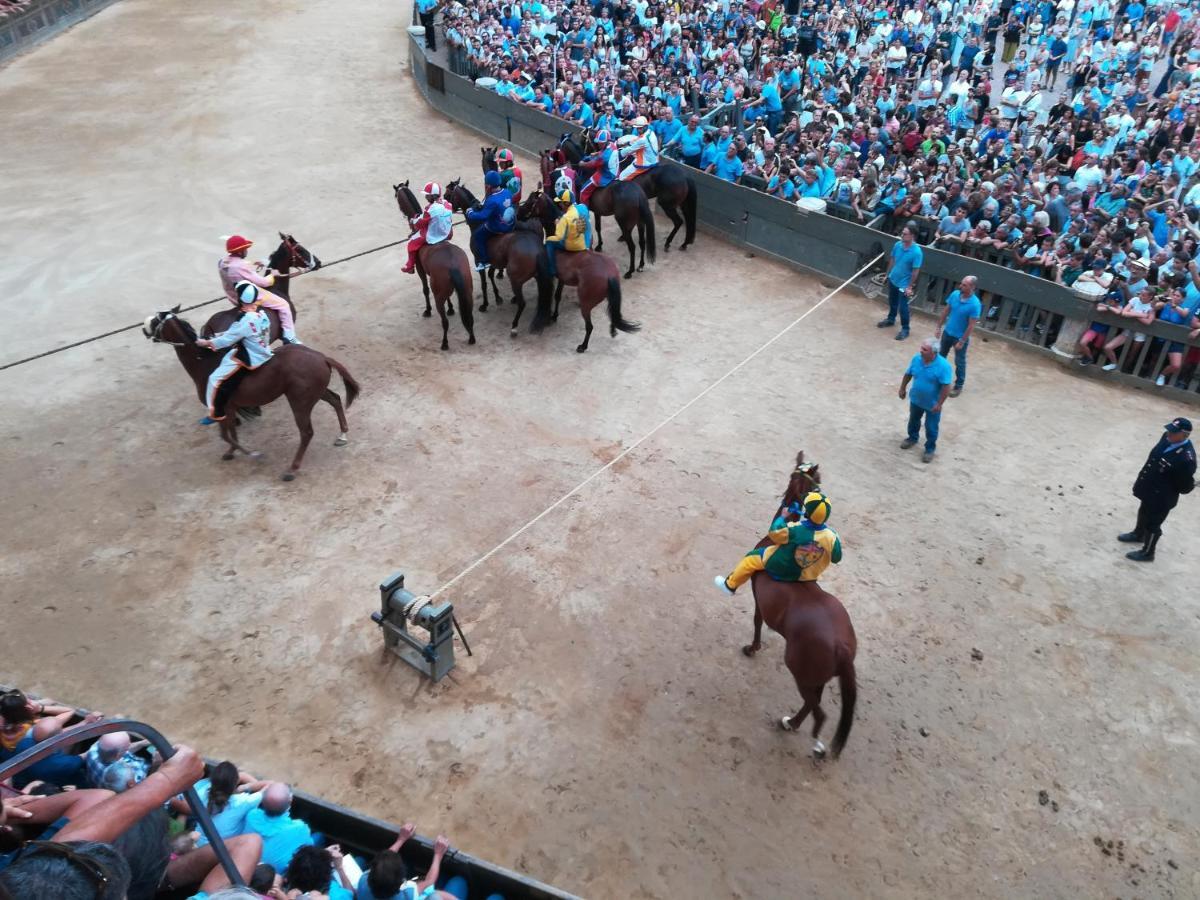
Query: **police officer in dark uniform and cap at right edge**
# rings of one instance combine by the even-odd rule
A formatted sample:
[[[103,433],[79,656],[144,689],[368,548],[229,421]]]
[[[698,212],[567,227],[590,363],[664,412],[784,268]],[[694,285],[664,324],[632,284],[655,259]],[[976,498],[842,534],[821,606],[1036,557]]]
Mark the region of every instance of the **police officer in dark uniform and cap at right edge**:
[[[1166,515],[1180,502],[1181,493],[1192,493],[1196,474],[1196,451],[1192,445],[1192,422],[1172,419],[1154,449],[1146,457],[1146,464],[1133,482],[1133,496],[1141,500],[1138,506],[1138,524],[1132,532],[1117,535],[1124,544],[1141,544],[1141,550],[1126,553],[1139,563],[1154,562],[1154,545],[1163,534]]]

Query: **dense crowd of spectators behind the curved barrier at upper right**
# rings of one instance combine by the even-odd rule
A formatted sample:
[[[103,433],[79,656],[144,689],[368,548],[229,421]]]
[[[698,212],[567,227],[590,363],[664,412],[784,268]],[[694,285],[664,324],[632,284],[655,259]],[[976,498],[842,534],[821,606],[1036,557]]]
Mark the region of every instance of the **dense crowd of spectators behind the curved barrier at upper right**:
[[[1140,260],[1156,311],[1195,325],[1192,2],[451,0],[443,18],[515,103],[614,137],[646,116],[688,164],[1034,277],[1103,259],[1121,310]]]

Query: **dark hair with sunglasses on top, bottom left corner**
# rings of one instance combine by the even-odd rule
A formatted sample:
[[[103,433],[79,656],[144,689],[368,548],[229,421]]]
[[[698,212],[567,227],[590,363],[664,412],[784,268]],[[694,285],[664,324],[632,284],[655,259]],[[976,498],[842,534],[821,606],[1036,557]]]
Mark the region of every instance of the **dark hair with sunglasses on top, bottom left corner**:
[[[97,889],[95,877],[83,863],[40,847],[26,851],[0,872],[0,888],[17,900],[47,896],[55,900],[124,900],[130,887],[130,866],[120,853],[108,844],[96,841],[68,841],[62,846],[103,870],[108,878],[103,890]]]

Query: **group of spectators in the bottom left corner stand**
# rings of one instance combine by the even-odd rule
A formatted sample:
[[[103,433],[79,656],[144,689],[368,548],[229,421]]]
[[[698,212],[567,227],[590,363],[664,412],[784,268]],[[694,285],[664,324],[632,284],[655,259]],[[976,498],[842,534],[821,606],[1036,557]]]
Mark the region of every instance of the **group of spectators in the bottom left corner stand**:
[[[70,707],[6,691],[0,763],[77,719]],[[197,830],[184,798],[188,788],[248,888],[232,887]],[[421,875],[402,854],[413,824],[373,857],[354,856],[294,815],[288,785],[258,780],[228,761],[206,770],[187,746],[164,761],[124,732],[78,754],[53,754],[0,784],[0,896],[13,900],[468,900],[466,880],[442,872],[444,836]]]

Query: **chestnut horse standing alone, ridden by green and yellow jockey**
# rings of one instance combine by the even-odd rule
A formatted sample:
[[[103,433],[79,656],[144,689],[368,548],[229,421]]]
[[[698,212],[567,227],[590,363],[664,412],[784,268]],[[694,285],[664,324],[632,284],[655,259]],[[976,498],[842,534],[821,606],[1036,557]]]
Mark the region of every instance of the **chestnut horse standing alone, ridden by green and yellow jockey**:
[[[816,463],[804,462],[804,451],[796,455],[796,468],[787,481],[778,516],[786,516],[793,503],[803,503],[809,491],[818,490],[821,472]],[[788,516],[798,518],[797,514]],[[770,544],[758,541],[758,547]],[[841,688],[841,718],[833,738],[833,755],[836,758],[846,745],[854,721],[854,701],[858,686],[854,680],[854,653],[857,640],[846,607],[833,594],[822,590],[812,581],[775,581],[766,572],[755,572],[754,590],[754,641],[742,648],[746,656],[754,656],[762,647],[762,623],[784,636],[787,648],[784,661],[796,679],[804,704],[796,715],[780,719],[784,731],[797,731],[809,713],[812,714],[812,755],[824,756],[821,743],[821,726],[826,714],[821,708],[821,695],[826,684],[835,676]]]

